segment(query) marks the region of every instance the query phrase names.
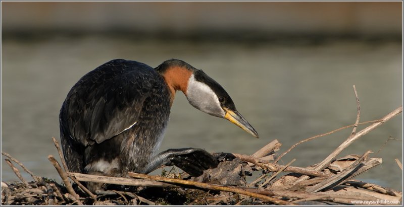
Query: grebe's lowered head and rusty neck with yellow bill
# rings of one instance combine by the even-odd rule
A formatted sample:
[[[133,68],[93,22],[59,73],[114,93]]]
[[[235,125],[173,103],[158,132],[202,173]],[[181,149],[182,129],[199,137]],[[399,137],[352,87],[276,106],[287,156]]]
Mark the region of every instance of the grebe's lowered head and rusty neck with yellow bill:
[[[180,90],[193,107],[225,118],[258,138],[257,131],[237,111],[229,94],[202,70],[178,59],[167,60],[156,69],[165,78],[172,97]]]

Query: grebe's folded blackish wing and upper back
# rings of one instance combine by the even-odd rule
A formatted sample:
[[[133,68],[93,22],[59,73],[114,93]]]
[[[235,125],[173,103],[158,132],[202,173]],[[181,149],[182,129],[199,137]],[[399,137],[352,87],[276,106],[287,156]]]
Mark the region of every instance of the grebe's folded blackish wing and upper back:
[[[70,90],[61,110],[70,136],[87,146],[111,139],[137,122],[143,102],[163,78],[150,66],[111,60]]]

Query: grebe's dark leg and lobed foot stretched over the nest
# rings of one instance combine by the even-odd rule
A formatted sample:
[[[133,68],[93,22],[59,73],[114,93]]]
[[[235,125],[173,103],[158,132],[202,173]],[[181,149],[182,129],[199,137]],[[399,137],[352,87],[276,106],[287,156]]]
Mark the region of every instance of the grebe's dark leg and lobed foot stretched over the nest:
[[[181,148],[161,152],[150,160],[142,173],[149,173],[162,165],[175,165],[192,176],[200,176],[204,170],[215,168],[218,161],[203,149]]]

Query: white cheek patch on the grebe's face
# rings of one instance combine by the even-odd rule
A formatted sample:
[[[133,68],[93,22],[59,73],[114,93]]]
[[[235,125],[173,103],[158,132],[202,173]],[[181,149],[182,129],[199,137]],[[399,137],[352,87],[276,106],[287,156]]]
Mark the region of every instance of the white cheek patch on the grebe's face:
[[[193,74],[188,80],[186,94],[193,107],[213,116],[224,117],[225,112],[215,92],[208,85],[196,81]]]

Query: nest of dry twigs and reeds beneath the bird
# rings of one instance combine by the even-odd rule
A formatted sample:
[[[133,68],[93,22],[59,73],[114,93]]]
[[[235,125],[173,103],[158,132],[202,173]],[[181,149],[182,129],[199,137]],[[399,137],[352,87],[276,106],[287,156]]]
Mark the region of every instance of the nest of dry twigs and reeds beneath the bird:
[[[2,204],[400,204],[401,191],[353,179],[380,165],[381,158],[370,158],[370,151],[337,158],[359,137],[402,112],[400,106],[381,119],[360,123],[357,94],[356,97],[358,116],[355,124],[300,141],[280,155],[276,152],[282,144],[277,140],[253,155],[214,153],[220,161],[219,166],[206,170],[197,178],[175,170],[163,170],[161,176],[130,172],[130,178],[70,173],[63,162],[59,144],[53,138],[64,169],[52,155],[48,159],[62,178],[63,182],[59,184],[35,176],[18,160],[2,152],[21,180],[9,184],[2,182]],[[369,125],[356,132],[359,124]],[[349,137],[321,163],[309,167],[292,166],[294,160],[286,165],[277,164],[297,145],[349,127],[353,128]],[[33,181],[26,181],[12,161],[29,173]],[[401,163],[397,159],[396,162],[402,170]],[[253,171],[260,171],[262,176],[248,183],[245,178]],[[288,174],[279,176],[280,172]],[[106,183],[106,191],[94,194],[88,191],[85,182]]]

